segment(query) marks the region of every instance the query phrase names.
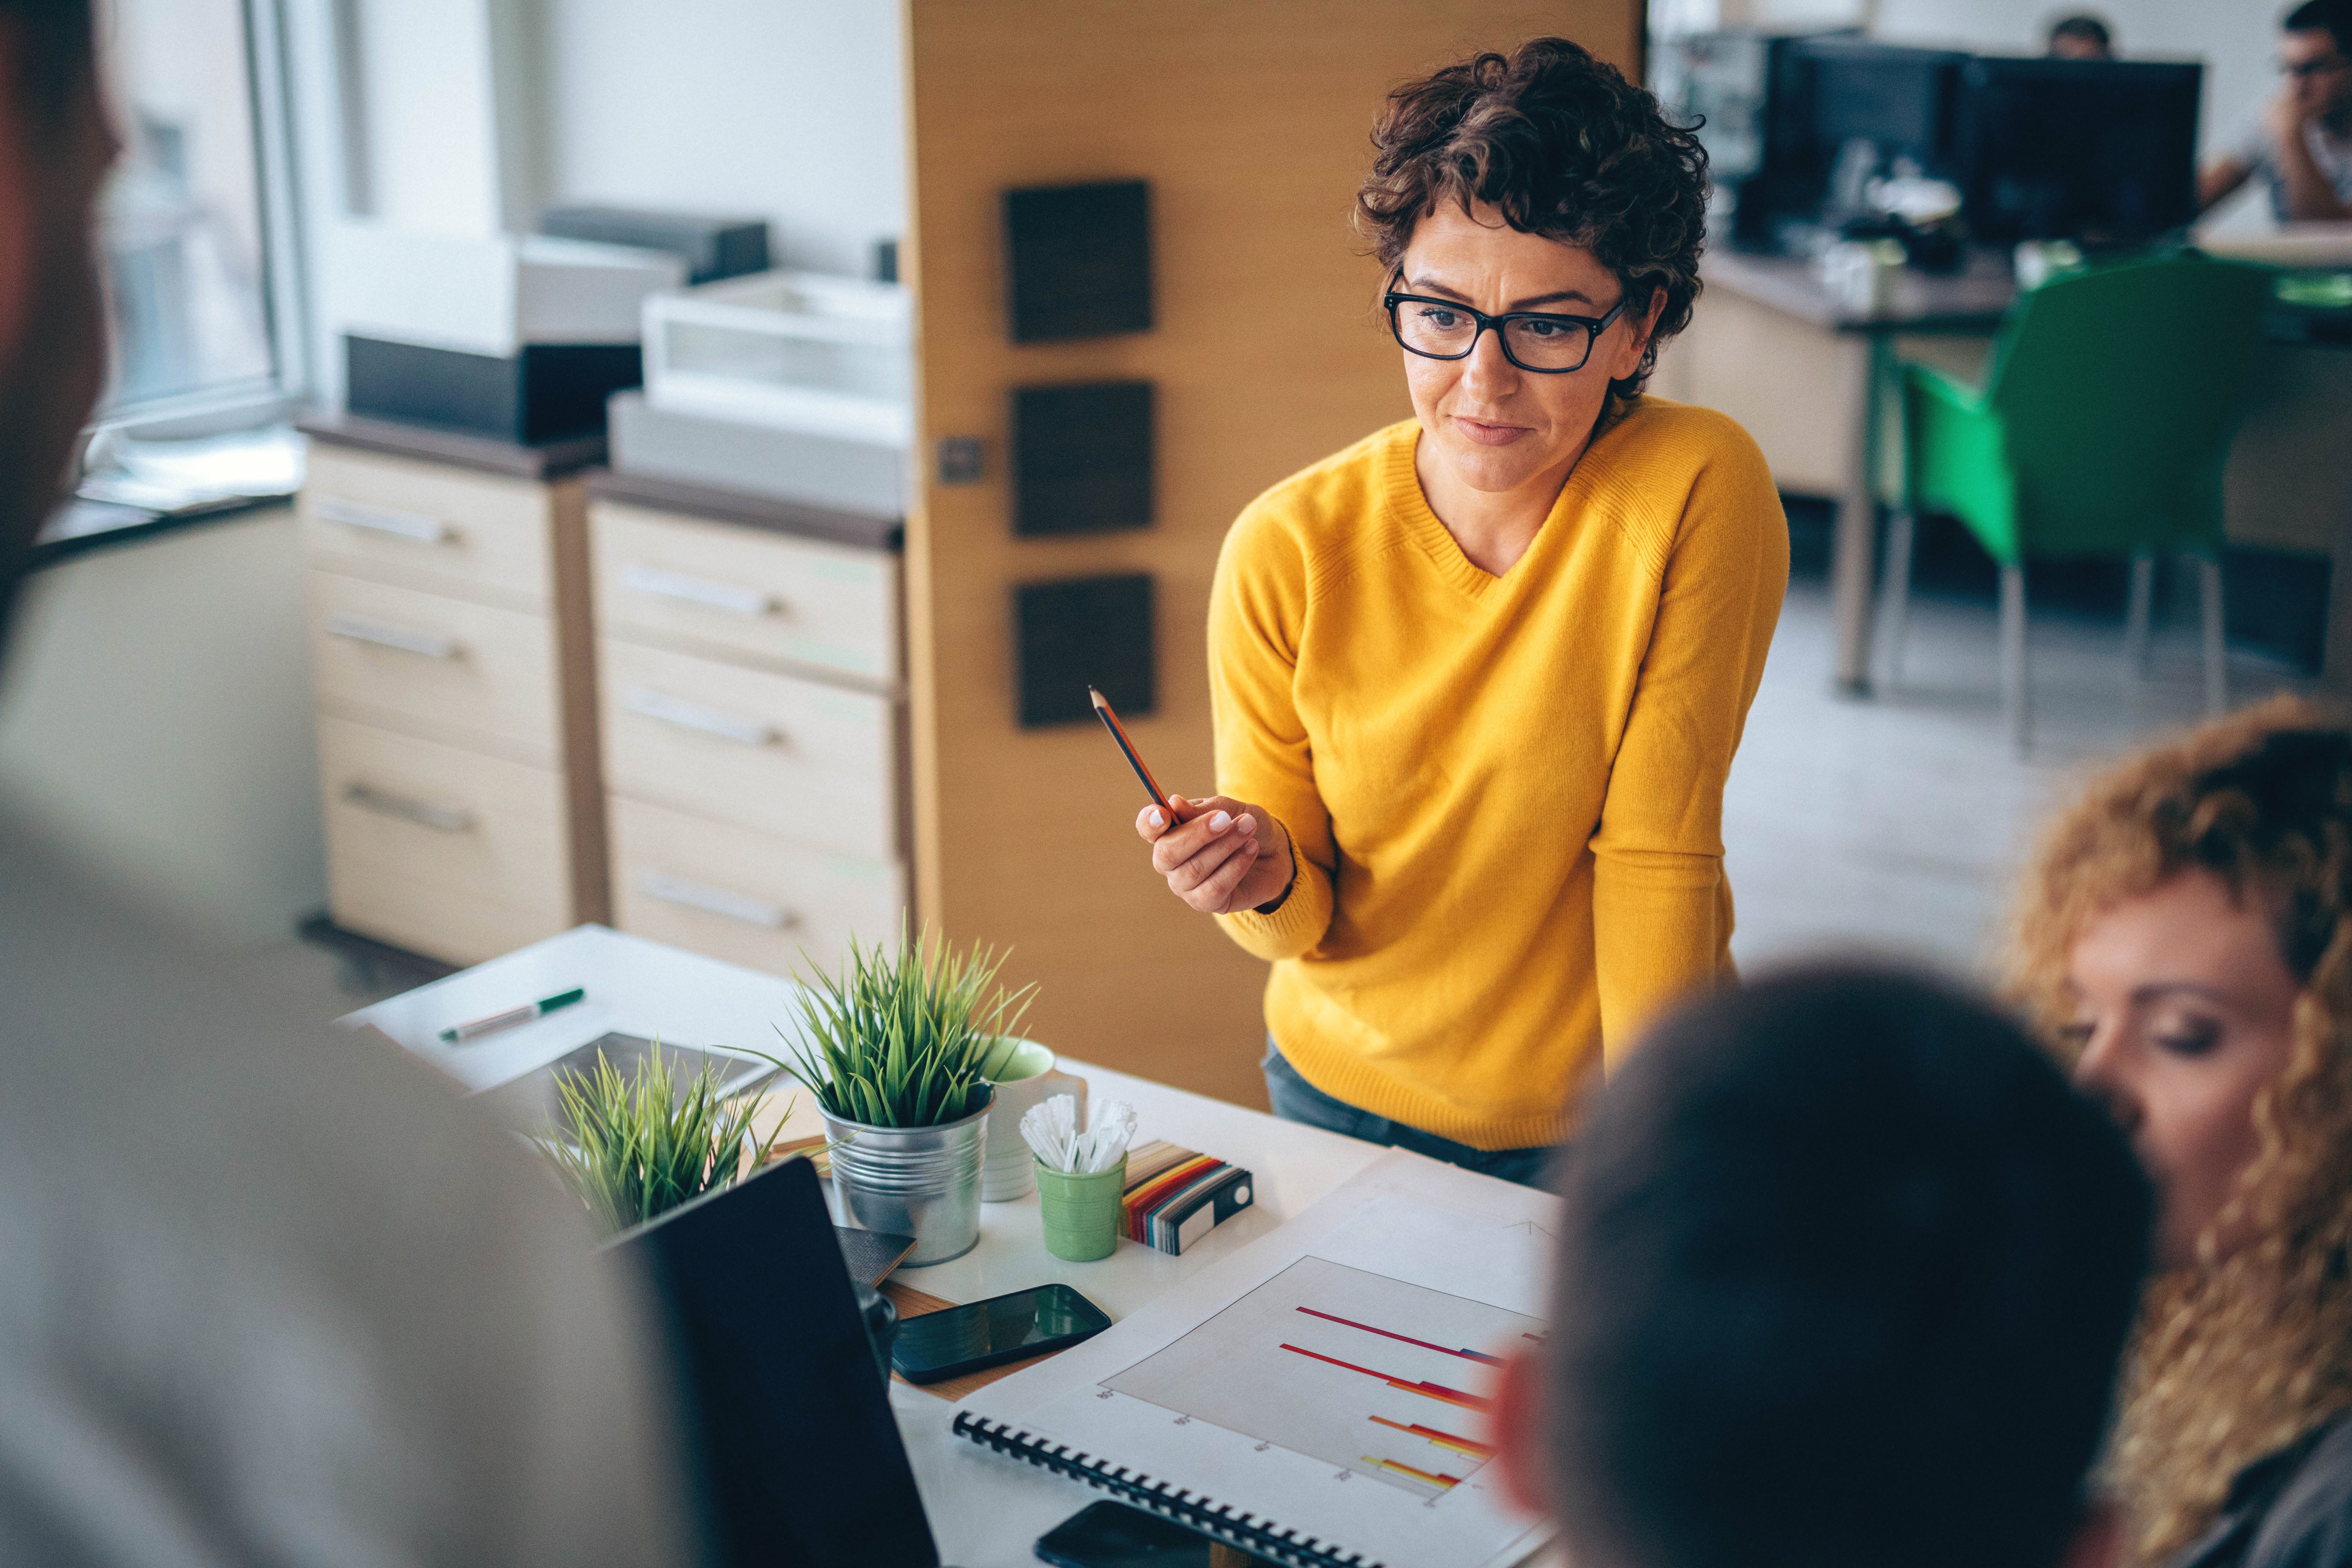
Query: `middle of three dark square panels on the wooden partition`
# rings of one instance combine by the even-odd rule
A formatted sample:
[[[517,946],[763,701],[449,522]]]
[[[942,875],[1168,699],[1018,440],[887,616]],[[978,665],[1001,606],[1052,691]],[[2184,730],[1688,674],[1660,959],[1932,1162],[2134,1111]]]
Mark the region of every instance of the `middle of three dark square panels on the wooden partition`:
[[[1014,534],[1103,534],[1152,522],[1152,383],[1014,390]]]

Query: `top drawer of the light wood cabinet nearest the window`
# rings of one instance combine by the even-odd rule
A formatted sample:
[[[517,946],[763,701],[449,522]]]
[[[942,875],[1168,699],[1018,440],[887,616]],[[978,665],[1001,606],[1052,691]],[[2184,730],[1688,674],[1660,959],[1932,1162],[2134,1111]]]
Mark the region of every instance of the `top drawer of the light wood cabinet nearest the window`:
[[[515,609],[553,602],[550,489],[310,442],[301,531],[310,564]]]

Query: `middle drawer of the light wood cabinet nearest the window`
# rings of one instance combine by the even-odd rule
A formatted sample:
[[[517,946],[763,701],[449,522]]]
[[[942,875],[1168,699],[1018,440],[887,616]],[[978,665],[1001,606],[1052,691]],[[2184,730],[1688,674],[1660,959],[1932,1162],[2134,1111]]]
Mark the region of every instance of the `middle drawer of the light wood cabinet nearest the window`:
[[[346,717],[557,764],[546,616],[313,571],[310,670],[320,703]]]

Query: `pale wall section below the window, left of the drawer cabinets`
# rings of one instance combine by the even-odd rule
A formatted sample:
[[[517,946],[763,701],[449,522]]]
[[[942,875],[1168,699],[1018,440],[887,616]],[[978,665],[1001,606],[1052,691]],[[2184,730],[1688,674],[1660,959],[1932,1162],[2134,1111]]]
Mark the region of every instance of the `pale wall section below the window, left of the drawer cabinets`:
[[[45,571],[0,670],[0,795],[214,940],[327,903],[301,541],[285,508]]]

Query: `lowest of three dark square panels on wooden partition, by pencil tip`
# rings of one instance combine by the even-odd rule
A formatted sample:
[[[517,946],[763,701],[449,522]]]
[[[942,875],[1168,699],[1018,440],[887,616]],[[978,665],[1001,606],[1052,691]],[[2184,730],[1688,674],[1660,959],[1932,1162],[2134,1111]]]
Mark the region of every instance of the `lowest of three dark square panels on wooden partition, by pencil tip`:
[[[1021,726],[1089,724],[1087,686],[1122,719],[1143,717],[1152,684],[1152,578],[1094,576],[1014,588]]]

